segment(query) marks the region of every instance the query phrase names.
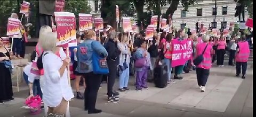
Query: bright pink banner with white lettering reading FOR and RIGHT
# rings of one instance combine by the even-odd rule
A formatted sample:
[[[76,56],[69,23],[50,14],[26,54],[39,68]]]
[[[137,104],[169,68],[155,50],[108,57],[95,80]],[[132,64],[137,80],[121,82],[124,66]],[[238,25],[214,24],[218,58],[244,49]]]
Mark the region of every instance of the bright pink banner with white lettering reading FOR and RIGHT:
[[[193,53],[191,43],[191,40],[172,40],[172,67],[185,65],[186,61],[191,59]]]

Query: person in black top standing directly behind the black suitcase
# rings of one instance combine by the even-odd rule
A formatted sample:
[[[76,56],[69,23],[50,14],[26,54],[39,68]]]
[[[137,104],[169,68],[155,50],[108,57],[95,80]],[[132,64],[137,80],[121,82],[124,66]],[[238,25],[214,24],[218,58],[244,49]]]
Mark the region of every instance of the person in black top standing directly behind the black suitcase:
[[[156,59],[158,57],[158,44],[159,42],[157,42],[157,36],[154,35],[153,40],[149,43],[149,48],[148,48],[148,52],[150,54],[150,59],[151,59],[151,64],[153,69],[155,68],[155,62]],[[158,38],[160,39],[160,37],[158,36]],[[158,40],[159,41],[159,40]],[[150,77],[148,77],[148,82],[152,82],[153,80],[153,70],[150,71]]]

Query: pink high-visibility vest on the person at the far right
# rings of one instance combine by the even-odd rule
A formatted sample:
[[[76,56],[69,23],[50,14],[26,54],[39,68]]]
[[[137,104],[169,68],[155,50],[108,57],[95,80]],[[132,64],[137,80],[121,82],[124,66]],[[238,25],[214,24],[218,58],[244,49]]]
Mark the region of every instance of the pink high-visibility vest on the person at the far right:
[[[236,53],[236,62],[247,62],[250,57],[250,48],[247,41],[238,42],[239,52]]]

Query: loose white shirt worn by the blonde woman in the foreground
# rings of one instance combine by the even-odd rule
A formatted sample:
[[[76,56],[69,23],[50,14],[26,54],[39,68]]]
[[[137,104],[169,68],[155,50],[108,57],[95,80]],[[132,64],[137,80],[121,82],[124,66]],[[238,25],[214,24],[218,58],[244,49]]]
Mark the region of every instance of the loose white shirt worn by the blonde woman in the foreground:
[[[43,86],[43,101],[46,106],[57,107],[62,98],[66,101],[70,101],[74,97],[71,86],[68,84],[68,71],[65,69],[62,76],[60,76],[59,69],[62,66],[63,61],[51,51],[47,55],[43,56],[43,68],[44,68],[44,84]],[[45,53],[45,52],[44,52]],[[43,85],[44,85],[43,84]]]

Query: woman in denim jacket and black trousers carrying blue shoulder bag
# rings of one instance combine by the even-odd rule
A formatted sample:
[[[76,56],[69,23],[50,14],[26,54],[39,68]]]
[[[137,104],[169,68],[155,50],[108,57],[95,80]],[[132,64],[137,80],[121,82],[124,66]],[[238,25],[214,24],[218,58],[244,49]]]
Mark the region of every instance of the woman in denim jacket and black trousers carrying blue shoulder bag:
[[[78,63],[76,71],[83,74],[86,84],[84,91],[84,110],[88,110],[89,114],[101,113],[101,110],[95,109],[95,103],[102,75],[93,73],[92,53],[95,51],[102,58],[106,58],[108,52],[99,41],[96,41],[96,34],[93,30],[86,30],[84,34],[85,41],[77,46],[76,53]]]

